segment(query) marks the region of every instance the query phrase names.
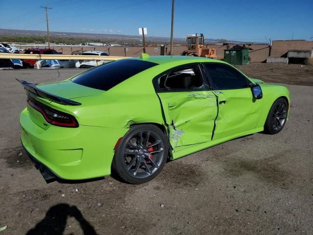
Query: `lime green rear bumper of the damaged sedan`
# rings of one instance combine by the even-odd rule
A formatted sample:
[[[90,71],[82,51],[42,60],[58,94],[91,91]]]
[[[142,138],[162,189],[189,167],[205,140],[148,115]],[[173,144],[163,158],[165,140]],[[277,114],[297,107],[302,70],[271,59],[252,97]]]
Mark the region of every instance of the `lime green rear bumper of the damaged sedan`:
[[[27,109],[20,115],[20,126],[22,145],[38,168],[66,180],[110,175],[115,143],[128,131],[83,125],[44,129],[32,121]]]

